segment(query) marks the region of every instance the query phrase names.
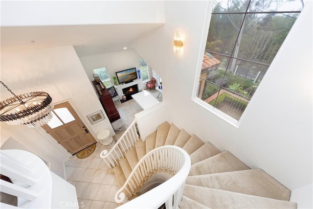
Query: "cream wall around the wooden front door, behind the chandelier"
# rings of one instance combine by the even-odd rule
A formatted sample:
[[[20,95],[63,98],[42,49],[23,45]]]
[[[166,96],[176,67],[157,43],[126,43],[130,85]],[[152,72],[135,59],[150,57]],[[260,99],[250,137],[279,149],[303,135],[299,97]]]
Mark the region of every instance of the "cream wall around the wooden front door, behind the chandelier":
[[[94,125],[86,117],[98,110],[105,112],[72,46],[1,53],[1,81],[15,94],[45,91],[54,103],[70,99],[95,139],[104,128],[114,133],[107,116]],[[1,85],[1,100],[11,96]],[[13,137],[48,161],[60,155],[63,156],[60,161],[65,162],[68,158],[48,141],[50,135],[36,129],[43,130],[41,127],[9,126],[1,122],[1,144]],[[51,162],[51,169],[54,166]],[[60,175],[59,170],[52,171]]]

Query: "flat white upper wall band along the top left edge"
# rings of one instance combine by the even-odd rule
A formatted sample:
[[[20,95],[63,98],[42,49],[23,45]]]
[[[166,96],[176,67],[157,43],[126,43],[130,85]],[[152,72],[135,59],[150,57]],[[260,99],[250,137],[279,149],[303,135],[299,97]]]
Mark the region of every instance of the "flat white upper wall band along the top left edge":
[[[164,23],[164,2],[1,1],[1,26],[120,23]]]

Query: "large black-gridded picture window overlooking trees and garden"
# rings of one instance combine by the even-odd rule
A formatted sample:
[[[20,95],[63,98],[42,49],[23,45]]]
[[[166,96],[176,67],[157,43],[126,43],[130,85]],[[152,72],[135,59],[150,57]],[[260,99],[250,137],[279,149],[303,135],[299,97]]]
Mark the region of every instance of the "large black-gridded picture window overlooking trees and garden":
[[[214,0],[198,97],[238,121],[302,8],[302,0]]]

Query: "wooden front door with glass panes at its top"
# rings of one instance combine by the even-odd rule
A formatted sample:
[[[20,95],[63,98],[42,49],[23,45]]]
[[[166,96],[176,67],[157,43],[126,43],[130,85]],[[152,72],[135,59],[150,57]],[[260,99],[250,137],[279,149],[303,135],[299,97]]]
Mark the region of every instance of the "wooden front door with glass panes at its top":
[[[68,102],[55,105],[52,114],[52,120],[42,127],[70,154],[74,155],[96,143]]]

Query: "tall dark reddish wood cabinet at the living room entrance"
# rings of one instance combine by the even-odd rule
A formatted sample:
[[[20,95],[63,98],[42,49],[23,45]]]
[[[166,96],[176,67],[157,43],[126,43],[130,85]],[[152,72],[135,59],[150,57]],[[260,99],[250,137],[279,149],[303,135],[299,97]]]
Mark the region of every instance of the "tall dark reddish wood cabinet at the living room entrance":
[[[118,111],[114,105],[112,100],[112,96],[107,90],[107,88],[102,84],[100,86],[99,83],[92,81],[92,84],[99,95],[100,103],[102,104],[103,109],[106,111],[107,116],[109,117],[110,122],[114,122],[121,118],[118,114]]]

